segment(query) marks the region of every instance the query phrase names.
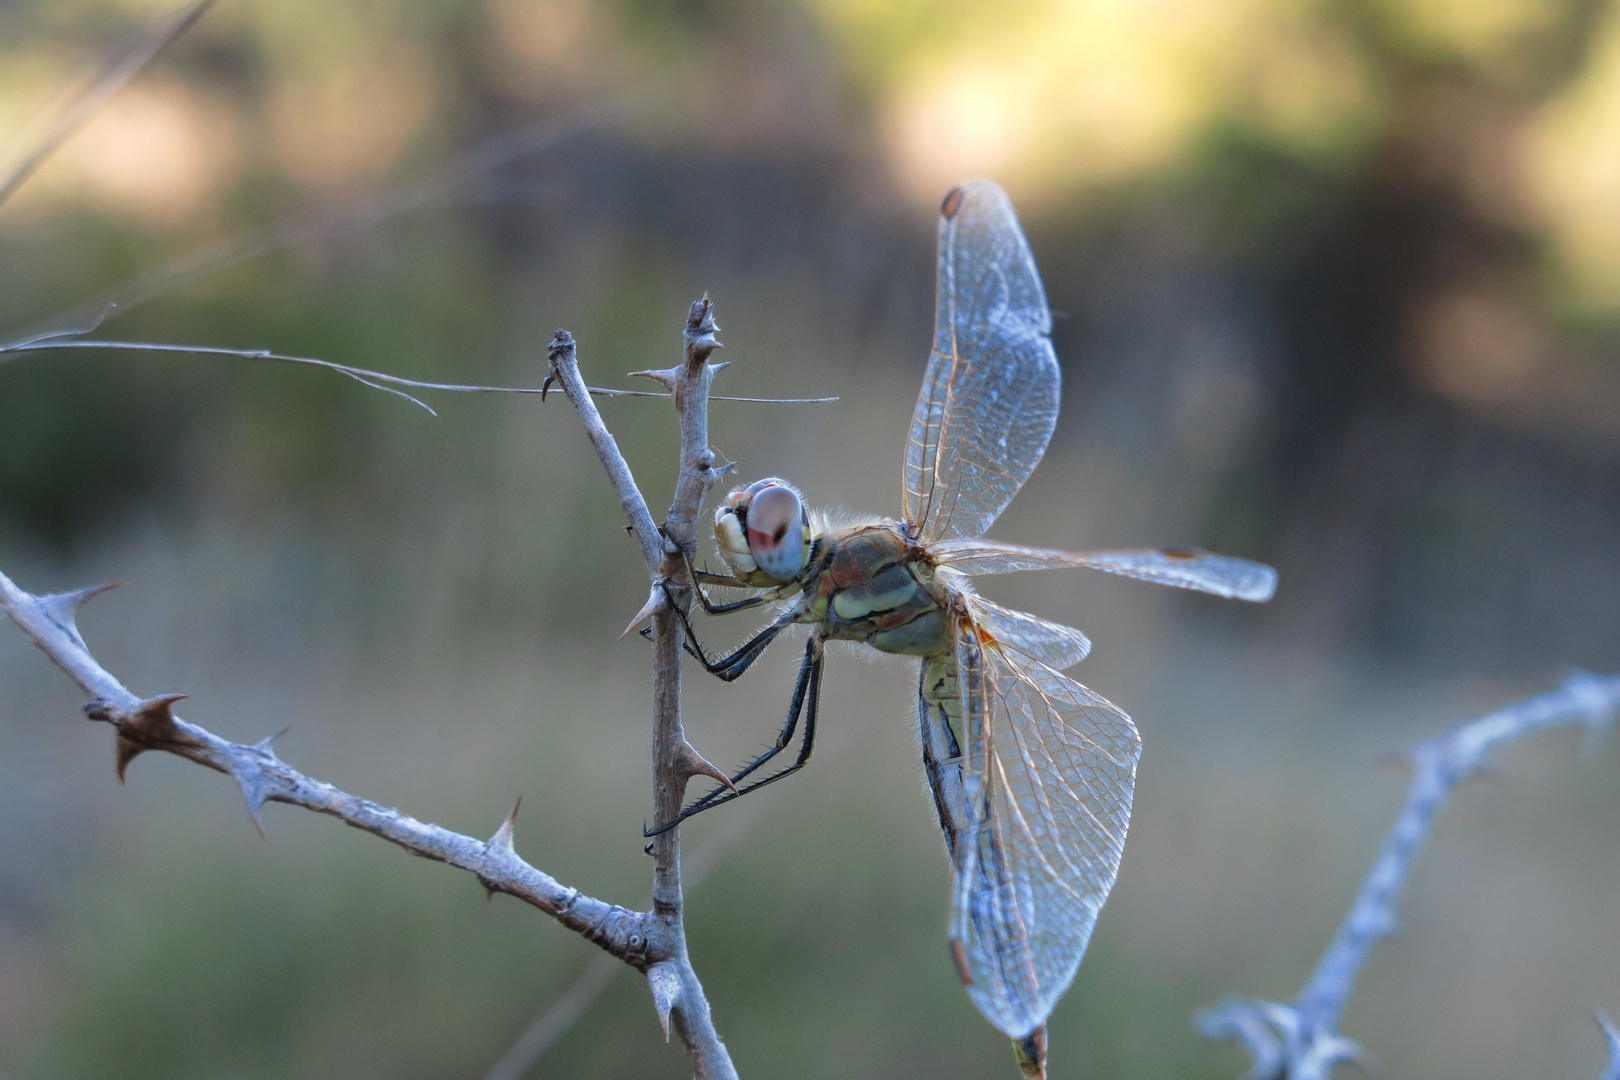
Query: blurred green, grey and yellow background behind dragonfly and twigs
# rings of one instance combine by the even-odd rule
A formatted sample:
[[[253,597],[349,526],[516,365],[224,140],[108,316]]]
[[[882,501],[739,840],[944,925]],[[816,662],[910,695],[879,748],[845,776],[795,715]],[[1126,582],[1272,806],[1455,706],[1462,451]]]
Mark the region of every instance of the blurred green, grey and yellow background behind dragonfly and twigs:
[[[0,151],[162,8],[0,2]],[[468,155],[491,139],[531,152]],[[1281,573],[1265,609],[988,589],[1092,633],[1074,674],[1145,742],[1053,1075],[1233,1077],[1189,1015],[1298,989],[1398,805],[1380,756],[1615,667],[1620,3],[222,0],[0,207],[0,337],[122,288],[154,296],[109,337],[533,385],[561,325],[629,385],[708,290],[719,392],[841,398],[716,403],[737,474],[893,513],[935,206],[974,175],[1021,207],[1066,377],[995,534]],[[525,857],[640,904],[637,551],[567,406],[433,405],[233,359],[13,359],[0,567],[128,581],[83,625],[131,688],[233,738],[292,724],[288,761],[465,832],[523,793]],[[667,505],[671,410],[603,411]],[[698,748],[768,740],[794,656],[693,674]],[[684,831],[748,814],[688,905],[744,1075],[1014,1075],[944,949],[910,687],[834,656],[812,767]],[[78,704],[0,633],[6,1080],[481,1077],[593,959],[313,814],[271,806],[261,840],[190,764],[118,787]],[[1597,1075],[1620,785],[1575,748],[1515,748],[1442,819],[1345,1022],[1387,1075]],[[622,975],[530,1075],[688,1067]]]

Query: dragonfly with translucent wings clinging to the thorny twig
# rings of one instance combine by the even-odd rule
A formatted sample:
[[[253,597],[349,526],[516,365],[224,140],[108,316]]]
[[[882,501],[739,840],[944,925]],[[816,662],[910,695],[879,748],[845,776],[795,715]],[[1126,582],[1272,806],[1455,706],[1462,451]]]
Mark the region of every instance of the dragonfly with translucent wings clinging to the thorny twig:
[[[1192,547],[1066,552],[985,539],[1047,450],[1059,385],[1051,314],[1011,201],[991,181],[954,188],[940,209],[935,340],[906,444],[901,517],[833,525],[779,478],[724,499],[714,539],[729,573],[697,570],[687,555],[701,607],[782,607],[716,657],[677,604],[688,653],[734,680],[784,630],[807,625],[808,641],[774,745],[648,831],[804,767],[828,641],[917,657],[923,771],[953,866],[951,957],[1030,1077],[1045,1075],[1047,1018],[1113,889],[1142,742],[1129,716],[1063,674],[1090,651],[1081,630],[1003,607],[972,578],[1087,567],[1243,601],[1277,588],[1270,567]],[[705,585],[752,594],[716,602]],[[800,719],[797,758],[768,771]]]

